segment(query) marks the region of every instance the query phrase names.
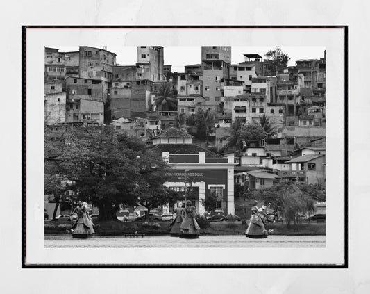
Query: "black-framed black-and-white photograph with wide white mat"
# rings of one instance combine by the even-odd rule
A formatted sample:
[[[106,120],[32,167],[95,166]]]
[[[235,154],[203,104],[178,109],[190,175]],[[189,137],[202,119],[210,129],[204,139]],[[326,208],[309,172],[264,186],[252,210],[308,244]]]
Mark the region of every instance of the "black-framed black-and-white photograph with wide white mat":
[[[348,268],[348,26],[23,26],[22,56],[24,268]]]

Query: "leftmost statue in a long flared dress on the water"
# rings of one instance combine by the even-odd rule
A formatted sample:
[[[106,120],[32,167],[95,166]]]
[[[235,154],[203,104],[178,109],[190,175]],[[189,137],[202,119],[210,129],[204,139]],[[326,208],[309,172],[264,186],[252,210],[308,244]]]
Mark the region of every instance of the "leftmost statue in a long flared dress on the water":
[[[86,202],[79,203],[74,209],[74,213],[77,214],[78,218],[72,225],[72,237],[74,238],[87,238],[94,234],[94,224],[88,214],[88,206]]]

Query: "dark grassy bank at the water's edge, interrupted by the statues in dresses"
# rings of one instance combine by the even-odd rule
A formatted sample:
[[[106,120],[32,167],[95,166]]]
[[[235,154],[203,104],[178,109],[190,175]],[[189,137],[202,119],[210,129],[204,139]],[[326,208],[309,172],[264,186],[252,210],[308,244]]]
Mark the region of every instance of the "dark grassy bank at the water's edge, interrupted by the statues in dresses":
[[[122,234],[141,233],[146,235],[169,234],[171,222],[98,222],[100,227],[95,229],[99,236],[119,236]],[[72,227],[72,222],[45,222],[45,234],[66,234],[66,230]],[[247,224],[242,222],[210,222],[201,229],[201,234],[244,234]],[[274,229],[271,235],[325,235],[325,223],[302,223],[289,227],[285,223],[267,224],[267,229]]]

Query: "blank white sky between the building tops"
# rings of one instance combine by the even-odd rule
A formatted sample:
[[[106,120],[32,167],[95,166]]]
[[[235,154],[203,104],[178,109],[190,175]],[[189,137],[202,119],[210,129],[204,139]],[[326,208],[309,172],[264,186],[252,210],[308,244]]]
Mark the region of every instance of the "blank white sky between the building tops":
[[[101,46],[94,46],[96,48]],[[58,47],[60,52],[78,51],[78,47]],[[243,54],[259,54],[264,58],[264,54],[270,49],[274,49],[276,45],[267,46],[233,46],[231,47],[231,63],[241,63],[244,61]],[[283,53],[287,53],[290,57],[289,66],[295,65],[298,59],[319,59],[323,57],[325,47],[301,47],[301,46],[281,46]],[[107,45],[107,50],[117,54],[116,61],[119,65],[135,65],[136,63],[136,47],[117,47]],[[184,72],[185,65],[193,65],[201,63],[201,47],[200,46],[176,46],[164,47],[165,65],[172,65],[172,72]]]

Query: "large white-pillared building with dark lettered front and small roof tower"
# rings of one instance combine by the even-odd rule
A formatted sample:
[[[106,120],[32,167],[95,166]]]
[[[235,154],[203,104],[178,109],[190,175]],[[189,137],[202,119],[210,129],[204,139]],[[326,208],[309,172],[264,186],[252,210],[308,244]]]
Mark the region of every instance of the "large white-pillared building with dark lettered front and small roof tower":
[[[153,152],[162,154],[170,168],[165,186],[183,195],[178,202],[190,200],[196,213],[204,214],[201,203],[213,196],[221,211],[235,215],[234,158],[221,157],[195,145],[192,138],[176,128],[152,138]]]

